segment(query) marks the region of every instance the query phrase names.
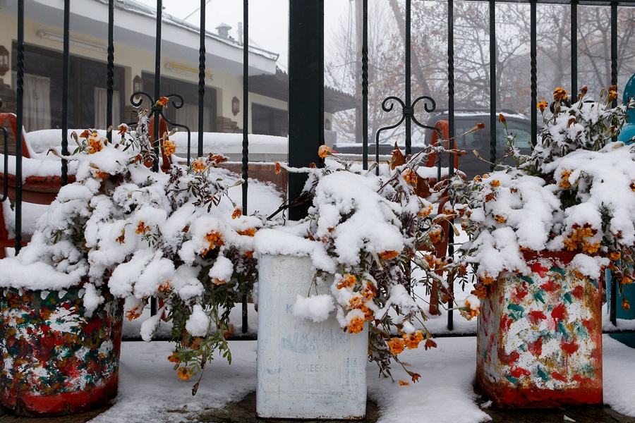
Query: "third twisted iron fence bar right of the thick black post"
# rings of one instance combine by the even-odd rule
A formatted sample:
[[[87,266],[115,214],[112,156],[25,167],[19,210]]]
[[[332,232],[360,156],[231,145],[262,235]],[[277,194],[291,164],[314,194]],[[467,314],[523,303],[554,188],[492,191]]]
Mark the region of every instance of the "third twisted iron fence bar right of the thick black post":
[[[448,135],[449,139],[453,140],[454,144],[454,0],[447,1],[447,123],[448,123]],[[454,145],[452,146],[454,148]],[[448,164],[449,172],[452,175],[454,173],[454,157],[448,160],[451,162]],[[437,180],[440,180],[440,175]],[[448,228],[447,231],[447,245],[448,245],[448,257],[454,256],[454,231],[452,228]],[[452,283],[448,283],[450,290],[450,296],[453,294]],[[454,329],[454,312],[452,308],[454,305],[452,301],[447,303],[449,311],[447,312],[447,329],[452,331]]]

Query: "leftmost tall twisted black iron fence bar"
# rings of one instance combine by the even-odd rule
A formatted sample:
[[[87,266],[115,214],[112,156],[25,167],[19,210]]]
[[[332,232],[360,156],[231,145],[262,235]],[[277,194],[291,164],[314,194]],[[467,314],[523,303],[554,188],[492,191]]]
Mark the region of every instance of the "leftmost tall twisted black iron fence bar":
[[[22,124],[24,109],[24,0],[18,0],[18,58],[16,73],[16,255],[22,248]],[[5,178],[6,180],[6,178]]]

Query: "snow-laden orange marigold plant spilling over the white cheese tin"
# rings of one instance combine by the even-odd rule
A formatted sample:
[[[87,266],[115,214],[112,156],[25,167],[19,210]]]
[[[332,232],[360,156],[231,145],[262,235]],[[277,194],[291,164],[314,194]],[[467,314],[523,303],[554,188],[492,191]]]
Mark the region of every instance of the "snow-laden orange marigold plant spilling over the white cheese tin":
[[[298,295],[293,312],[317,322],[337,310],[337,321],[348,333],[368,326],[369,358],[389,376],[393,360],[403,365],[398,355],[405,348],[436,346],[414,288],[437,281],[446,301],[449,290],[435,271],[450,264],[446,257],[419,250],[433,250],[442,240],[442,221],[455,214],[447,209],[432,216],[442,190],[430,187],[428,178],[436,169],[421,166],[428,159],[425,152],[406,160],[395,149],[380,175],[373,171],[377,164],[364,171],[326,146],[319,155],[326,159],[325,168],[286,168],[309,174],[305,192],[313,205],[295,230],[313,241],[310,255],[317,269],[310,292]],[[420,377],[406,372],[412,381]]]

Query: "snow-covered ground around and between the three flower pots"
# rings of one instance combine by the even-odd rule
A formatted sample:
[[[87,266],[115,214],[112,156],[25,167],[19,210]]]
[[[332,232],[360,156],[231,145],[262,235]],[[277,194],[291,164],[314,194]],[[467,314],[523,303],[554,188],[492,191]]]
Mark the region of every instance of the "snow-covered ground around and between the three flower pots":
[[[476,338],[437,338],[437,348],[410,350],[402,359],[421,373],[417,384],[399,386],[380,379],[377,366],[368,364],[368,397],[380,408],[383,423],[483,422],[473,393]],[[604,400],[617,412],[635,417],[635,351],[604,336]],[[125,342],[121,350],[119,396],[114,405],[92,422],[191,422],[197,413],[223,407],[255,391],[256,341],[231,341],[231,365],[219,357],[210,363],[196,396],[195,381],[181,381],[167,357],[167,342]],[[394,369],[395,380],[407,379]]]

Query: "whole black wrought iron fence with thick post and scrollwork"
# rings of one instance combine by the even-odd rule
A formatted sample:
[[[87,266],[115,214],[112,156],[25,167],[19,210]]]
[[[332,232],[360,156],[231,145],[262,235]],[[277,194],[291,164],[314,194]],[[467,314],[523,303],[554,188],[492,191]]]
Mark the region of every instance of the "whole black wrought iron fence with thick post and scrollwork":
[[[449,121],[449,139],[453,140],[455,137],[455,78],[454,78],[454,70],[455,70],[455,54],[454,54],[454,4],[455,1],[459,0],[447,0],[447,105],[448,105],[448,121]],[[463,0],[461,0],[463,1]],[[478,0],[473,0],[478,1]],[[490,31],[490,42],[489,42],[489,51],[490,58],[495,58],[496,52],[496,5],[497,2],[495,0],[484,0],[485,3],[489,6],[489,31]],[[483,1],[481,1],[483,3]],[[571,39],[576,39],[578,28],[578,6],[581,5],[595,5],[595,6],[605,6],[610,8],[610,40],[611,40],[611,48],[610,48],[610,75],[611,75],[611,84],[617,84],[617,63],[619,61],[618,52],[617,52],[617,34],[618,34],[618,25],[617,25],[617,13],[619,7],[629,7],[635,6],[635,0],[620,0],[620,1],[610,1],[610,0],[516,0],[512,1],[512,3],[517,4],[528,4],[530,7],[530,47],[529,47],[529,55],[530,55],[530,69],[529,73],[531,75],[531,104],[529,105],[529,110],[531,110],[531,137],[535,139],[538,133],[538,116],[536,103],[537,99],[537,87],[538,87],[538,78],[537,78],[537,18],[536,18],[536,9],[537,5],[540,4],[569,4],[570,5],[570,19],[571,19]],[[107,0],[108,4],[108,39],[107,39],[107,72],[105,85],[107,90],[107,137],[109,140],[112,140],[112,126],[114,122],[112,121],[112,111],[113,111],[113,92],[114,92],[114,11],[115,11],[115,0]],[[362,146],[363,146],[363,167],[368,168],[368,87],[369,87],[369,67],[368,67],[368,0],[361,0],[362,4],[362,16],[363,16],[363,36],[362,36],[362,48],[361,48],[361,125],[363,130],[361,130],[362,135]],[[205,104],[205,77],[206,77],[206,50],[205,50],[205,7],[207,5],[207,1],[200,1],[200,27],[199,27],[199,38],[200,38],[200,47],[199,47],[199,67],[198,67],[198,156],[203,155],[203,133],[204,133],[204,104]],[[395,104],[401,106],[401,119],[399,122],[394,125],[389,125],[385,128],[380,128],[375,134],[375,147],[376,147],[376,157],[375,160],[379,161],[379,148],[378,143],[380,142],[380,137],[382,131],[387,130],[389,128],[397,127],[402,123],[405,125],[405,143],[406,143],[406,154],[411,153],[411,133],[412,123],[416,125],[426,127],[421,122],[419,122],[416,118],[416,106],[423,104],[424,110],[427,112],[431,112],[435,110],[435,100],[427,95],[427,93],[418,93],[418,97],[414,101],[412,101],[412,92],[411,87],[413,85],[412,76],[411,76],[411,7],[412,1],[405,0],[404,6],[404,14],[405,14],[405,35],[404,35],[404,52],[405,52],[405,75],[404,75],[404,90],[405,97],[404,99],[400,99],[397,95],[389,96],[382,102],[382,109],[384,111],[391,111]],[[25,1],[18,0],[17,1],[17,54],[16,54],[16,179],[15,179],[15,195],[13,196],[13,202],[15,204],[15,232],[16,232],[16,244],[15,250],[16,253],[19,252],[20,246],[22,245],[22,202],[23,202],[23,187],[22,187],[22,160],[21,157],[23,155],[23,146],[19,140],[23,137],[23,99],[24,99],[24,60],[25,60],[25,39],[24,39],[24,30],[25,30]],[[156,33],[155,33],[155,84],[153,95],[148,94],[147,92],[137,91],[134,92],[131,96],[131,103],[134,106],[140,106],[143,100],[135,100],[138,96],[143,96],[147,100],[149,100],[150,104],[155,104],[155,102],[159,99],[159,97],[177,97],[179,98],[179,94],[163,94],[161,87],[161,63],[162,63],[162,25],[163,25],[163,16],[162,16],[162,0],[156,1]],[[69,77],[69,47],[71,45],[69,39],[70,33],[70,21],[71,21],[71,0],[64,0],[64,13],[63,13],[63,87],[62,87],[62,111],[61,111],[61,146],[62,146],[62,154],[68,154],[68,84],[70,81]],[[319,137],[317,137],[318,143],[324,142],[324,121],[323,121],[323,113],[324,113],[324,2],[323,0],[289,0],[289,164],[291,166],[308,166],[311,162],[320,163],[320,159],[317,157],[317,148],[313,148],[314,146],[308,146],[306,143],[308,142],[307,134],[315,135],[317,133]],[[243,0],[243,39],[249,39],[249,2],[248,0]],[[633,23],[635,25],[635,23]],[[313,36],[308,37],[307,34],[313,34]],[[248,42],[243,42],[243,104],[248,104],[249,99],[249,83],[248,83],[248,68],[249,68],[249,45]],[[571,61],[571,81],[570,81],[570,90],[572,93],[577,92],[578,90],[578,80],[577,80],[577,68],[578,68],[578,51],[577,51],[577,43],[571,42],[571,51],[570,51],[570,61]],[[496,78],[497,78],[497,68],[495,60],[490,60],[490,128],[495,128],[497,122],[497,104],[496,104]],[[423,95],[421,95],[423,94]],[[423,100],[423,101],[422,101]],[[421,103],[420,103],[421,102]],[[181,105],[183,104],[183,98],[181,97]],[[0,103],[1,106],[1,103]],[[175,104],[178,108],[178,104]],[[162,115],[162,107],[154,107],[152,108],[152,113],[155,116],[154,120],[154,133],[155,135],[159,133],[159,116],[166,119],[169,123],[176,126],[181,126],[188,130],[188,134],[190,133],[190,128],[187,128],[185,125],[180,125],[179,123],[169,121],[165,116]],[[244,107],[243,110],[243,141],[242,141],[242,168],[241,168],[241,176],[244,180],[243,183],[243,192],[242,192],[242,207],[243,212],[246,213],[248,211],[248,202],[247,202],[247,193],[248,193],[248,162],[249,162],[249,135],[248,135],[248,122],[249,122],[249,114],[247,107]],[[7,152],[6,145],[6,130],[4,128],[4,151]],[[315,138],[315,137],[313,137]],[[188,137],[189,140],[189,137]],[[319,144],[318,144],[319,145]],[[155,152],[157,157],[159,156],[159,147],[155,146]],[[495,130],[490,131],[490,161],[494,162],[496,157],[496,132]],[[189,157],[190,148],[188,141],[188,163],[190,160]],[[4,191],[2,200],[6,200],[8,197],[7,190],[7,159],[8,155],[4,155]],[[153,168],[158,170],[158,164],[155,162]],[[448,160],[448,168],[449,173],[452,174],[454,172],[454,166],[452,161]],[[68,183],[68,167],[66,160],[61,161],[61,183],[65,185]],[[289,198],[293,198],[294,195],[297,195],[303,186],[303,178],[302,176],[292,175],[289,180]],[[306,212],[306,209],[303,210],[301,208],[292,210],[290,212],[291,219],[298,219],[303,216],[303,213]],[[452,240],[452,231],[449,232],[450,242],[449,242],[449,251],[448,254],[452,255],[453,253],[453,240]],[[613,324],[616,322],[615,309],[617,307],[616,302],[616,283],[612,283],[612,295],[611,295],[611,316]],[[243,300],[243,332],[246,332],[247,327],[247,302],[246,299]],[[156,312],[156,305],[152,306],[152,312]],[[447,326],[449,330],[453,328],[453,320],[452,320],[452,312],[448,314],[448,322]]]

